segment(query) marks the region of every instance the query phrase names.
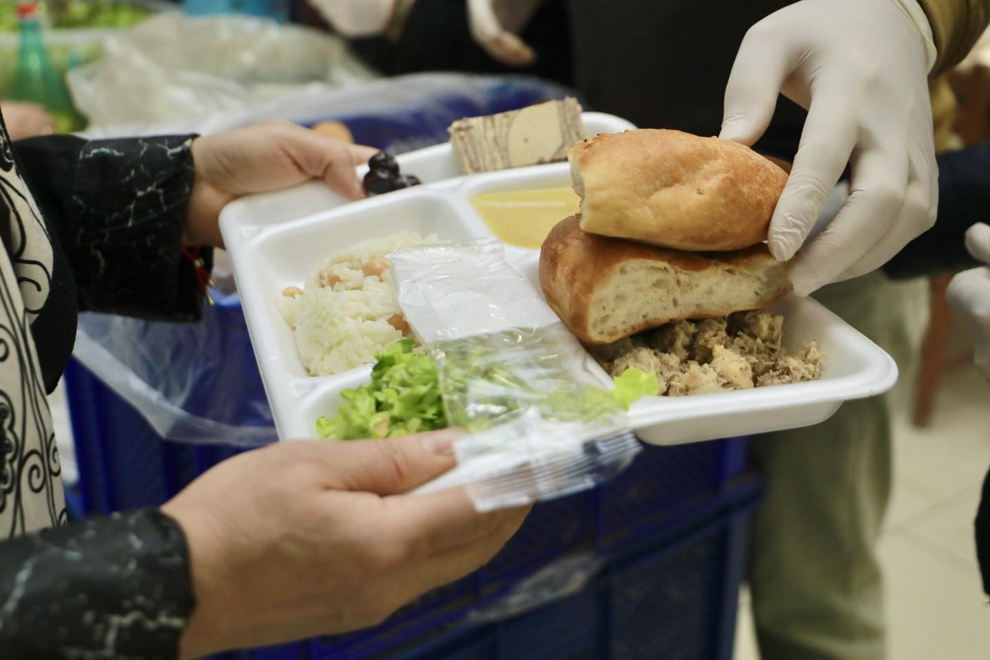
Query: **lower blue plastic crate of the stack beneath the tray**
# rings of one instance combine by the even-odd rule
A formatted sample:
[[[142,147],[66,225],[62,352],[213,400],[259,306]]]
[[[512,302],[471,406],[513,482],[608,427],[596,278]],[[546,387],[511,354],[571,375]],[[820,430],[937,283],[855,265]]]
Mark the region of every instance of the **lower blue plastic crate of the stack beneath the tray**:
[[[371,656],[314,642],[309,660],[730,660],[759,492],[755,480],[739,483],[613,556],[581,593],[535,612]]]

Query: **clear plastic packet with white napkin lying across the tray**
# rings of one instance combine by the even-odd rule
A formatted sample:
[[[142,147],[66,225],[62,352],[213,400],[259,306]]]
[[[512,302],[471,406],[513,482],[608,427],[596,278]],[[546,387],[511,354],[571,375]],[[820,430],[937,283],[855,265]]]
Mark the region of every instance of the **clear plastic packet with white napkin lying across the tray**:
[[[437,363],[457,467],[489,511],[593,488],[640,450],[609,379],[494,238],[390,257],[403,314]]]

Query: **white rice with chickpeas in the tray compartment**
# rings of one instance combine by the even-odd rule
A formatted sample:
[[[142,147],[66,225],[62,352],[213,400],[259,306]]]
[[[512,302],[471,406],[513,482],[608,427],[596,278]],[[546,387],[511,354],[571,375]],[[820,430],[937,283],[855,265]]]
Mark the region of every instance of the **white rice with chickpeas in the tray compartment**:
[[[439,242],[437,236],[399,232],[367,238],[325,259],[313,271],[302,294],[283,296],[279,311],[295,330],[303,366],[313,376],[329,376],[374,360],[375,353],[402,338],[388,320],[401,316],[392,272],[365,274],[400,247]],[[331,286],[332,284],[332,286]]]

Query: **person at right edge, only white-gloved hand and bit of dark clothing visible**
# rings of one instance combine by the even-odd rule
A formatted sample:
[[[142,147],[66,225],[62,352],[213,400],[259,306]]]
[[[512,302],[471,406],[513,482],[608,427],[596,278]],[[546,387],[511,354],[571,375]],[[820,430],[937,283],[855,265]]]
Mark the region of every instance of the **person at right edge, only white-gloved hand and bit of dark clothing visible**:
[[[953,277],[945,296],[972,330],[976,368],[990,381],[990,226],[973,225],[966,233],[966,247],[983,265]],[[983,591],[990,596],[990,472],[983,482],[974,526]]]

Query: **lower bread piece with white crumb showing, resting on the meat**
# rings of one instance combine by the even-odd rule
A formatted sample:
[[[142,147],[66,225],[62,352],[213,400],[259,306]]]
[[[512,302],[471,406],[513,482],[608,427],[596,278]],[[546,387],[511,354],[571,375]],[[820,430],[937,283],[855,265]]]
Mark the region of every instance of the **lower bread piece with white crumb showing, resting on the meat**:
[[[760,243],[682,252],[581,231],[573,216],[540,252],[546,302],[586,343],[608,343],[681,319],[753,310],[787,293],[786,264]]]

